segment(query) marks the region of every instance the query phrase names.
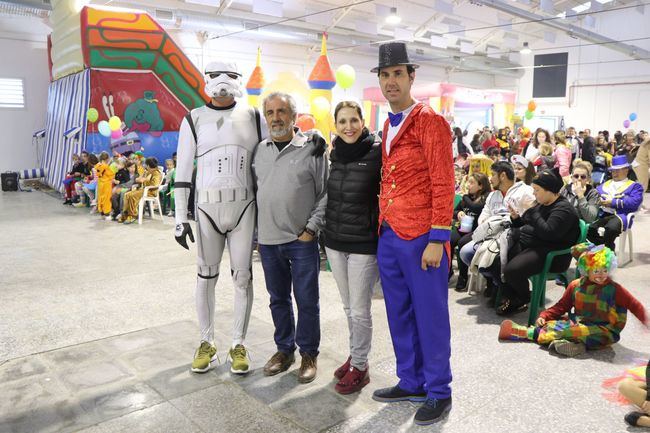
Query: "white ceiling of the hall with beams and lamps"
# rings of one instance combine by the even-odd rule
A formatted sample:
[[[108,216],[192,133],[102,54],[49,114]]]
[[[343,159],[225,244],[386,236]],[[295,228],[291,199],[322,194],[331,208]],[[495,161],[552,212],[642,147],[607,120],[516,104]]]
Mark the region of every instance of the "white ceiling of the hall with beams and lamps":
[[[46,18],[46,12],[35,8],[43,7],[49,0],[11,1],[30,7],[21,9],[0,2],[0,20],[3,15],[12,14]],[[501,11],[480,4],[490,1],[500,2]],[[589,31],[589,26],[594,25],[591,20],[604,15],[598,11],[636,0],[614,0],[606,4],[599,1],[592,0],[590,9],[586,10],[596,12],[589,15],[591,18],[584,15],[563,20],[567,29],[573,26],[572,33],[577,31],[581,36],[581,29]],[[320,46],[319,34],[328,31],[330,51],[359,54],[376,53],[377,42],[398,38],[411,40],[411,54],[421,63],[447,68],[488,65],[507,68],[517,64],[523,42],[534,49],[537,44],[552,43],[563,32],[544,22],[517,25],[524,20],[504,11],[504,7],[554,17],[566,11],[575,13],[570,8],[580,6],[582,0],[108,0],[92,3],[144,9],[170,30],[205,32],[209,38],[274,40],[316,51]],[[385,16],[395,6],[402,22],[386,24]],[[0,21],[0,28],[5,30],[5,27]],[[47,33],[43,25],[12,24],[6,31],[24,32],[25,29],[35,34]],[[490,57],[486,52],[491,53]],[[520,72],[504,70],[505,74],[516,76]]]

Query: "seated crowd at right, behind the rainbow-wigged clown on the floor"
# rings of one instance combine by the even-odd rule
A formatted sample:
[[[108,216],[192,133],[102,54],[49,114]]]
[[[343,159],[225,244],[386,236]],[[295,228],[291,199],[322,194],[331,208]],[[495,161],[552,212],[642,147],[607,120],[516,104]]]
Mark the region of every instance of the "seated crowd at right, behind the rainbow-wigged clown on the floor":
[[[584,241],[614,251],[642,206],[650,147],[645,131],[617,132],[611,142],[607,131],[593,138],[575,128],[553,134],[486,128],[463,146],[460,136],[454,134],[455,149],[468,151],[455,160],[455,289],[473,294],[485,280],[483,294],[499,315],[528,308],[528,279],[542,272],[550,252]],[[570,263],[569,253],[557,255],[550,272],[564,272]]]

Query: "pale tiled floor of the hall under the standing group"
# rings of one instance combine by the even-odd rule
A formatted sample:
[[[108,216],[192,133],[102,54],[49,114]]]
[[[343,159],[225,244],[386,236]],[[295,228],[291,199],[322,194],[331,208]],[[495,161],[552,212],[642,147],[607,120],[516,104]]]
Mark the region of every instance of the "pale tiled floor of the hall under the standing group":
[[[617,275],[646,306],[649,228],[650,216],[639,214],[638,253]],[[454,407],[437,425],[414,427],[416,405],[370,398],[395,383],[380,297],[373,300],[371,382],[359,394],[334,392],[332,373],[347,356],[348,336],[327,272],[317,379],[299,384],[297,364],[276,377],[262,374],[275,347],[258,260],[247,339],[253,371],[234,376],[222,364],[192,374],[195,250],[180,248],[172,230],[171,220],[100,221],[39,192],[0,194],[0,432],[628,431],[628,408],[610,403],[603,382],[650,356],[650,332],[631,316],[613,348],[562,359],[533,344],[499,343],[500,320],[484,300],[451,290]],[[222,361],[231,287],[229,278],[217,287]],[[549,302],[560,294],[549,282]]]

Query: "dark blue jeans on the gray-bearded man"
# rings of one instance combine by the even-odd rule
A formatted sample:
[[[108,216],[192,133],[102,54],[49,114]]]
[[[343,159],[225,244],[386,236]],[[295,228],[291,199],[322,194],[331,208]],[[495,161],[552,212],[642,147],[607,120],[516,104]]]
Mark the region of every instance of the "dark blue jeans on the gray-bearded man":
[[[318,355],[320,345],[320,306],[318,304],[318,242],[295,240],[280,245],[259,246],[266,290],[271,297],[273,338],[278,351]],[[298,306],[298,324],[293,317],[291,286]]]

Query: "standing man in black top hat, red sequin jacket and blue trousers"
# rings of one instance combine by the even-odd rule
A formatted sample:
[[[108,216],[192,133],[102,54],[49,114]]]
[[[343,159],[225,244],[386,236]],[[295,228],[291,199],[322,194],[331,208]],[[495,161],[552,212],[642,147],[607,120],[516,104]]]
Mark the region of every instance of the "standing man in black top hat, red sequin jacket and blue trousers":
[[[373,399],[423,402],[415,423],[426,425],[451,408],[447,274],[454,169],[449,124],[411,96],[417,67],[406,44],[391,42],[379,47],[379,66],[371,70],[392,111],[382,143],[377,262],[400,379]]]

